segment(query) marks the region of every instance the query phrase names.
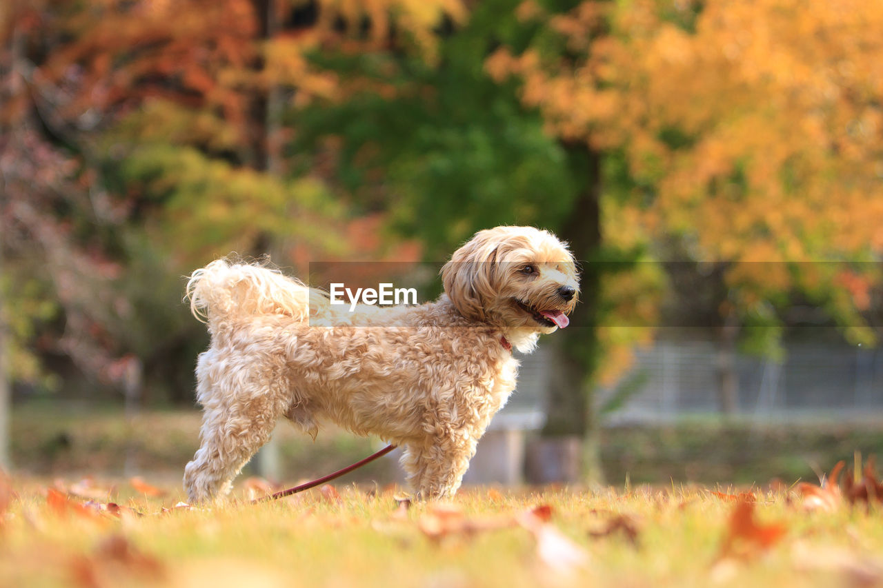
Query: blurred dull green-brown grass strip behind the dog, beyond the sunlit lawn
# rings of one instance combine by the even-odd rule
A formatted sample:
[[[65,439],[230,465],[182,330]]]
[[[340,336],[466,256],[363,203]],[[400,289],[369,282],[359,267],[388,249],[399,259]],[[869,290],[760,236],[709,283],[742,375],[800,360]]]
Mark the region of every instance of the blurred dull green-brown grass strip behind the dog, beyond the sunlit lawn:
[[[44,476],[146,472],[180,480],[199,445],[200,412],[142,411],[127,420],[119,407],[62,403],[17,405],[12,416],[12,459],[20,471]],[[372,453],[371,441],[323,430],[313,442],[287,423],[275,438],[283,479],[314,478]],[[819,471],[854,451],[883,456],[883,422],[789,422],[684,419],[670,424],[608,426],[601,433],[601,464],[608,483],[680,483],[762,486],[770,479],[817,479]],[[395,479],[392,460],[351,474],[350,481]]]

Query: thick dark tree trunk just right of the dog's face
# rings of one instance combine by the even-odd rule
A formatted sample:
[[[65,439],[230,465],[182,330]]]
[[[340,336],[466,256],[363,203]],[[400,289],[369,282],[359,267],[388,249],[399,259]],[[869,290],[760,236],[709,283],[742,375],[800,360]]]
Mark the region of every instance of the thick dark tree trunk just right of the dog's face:
[[[570,243],[571,251],[581,265],[580,302],[570,317],[570,327],[553,335],[557,348],[555,369],[549,382],[547,420],[542,434],[547,440],[544,442],[557,439],[560,443],[562,474],[583,471],[588,479],[600,480],[602,473],[598,444],[585,443],[585,440],[587,437],[596,439],[598,430],[592,407],[592,375],[600,351],[597,328],[601,268],[596,258],[601,243],[601,155],[585,144],[568,144],[565,147],[577,177],[585,178],[573,213],[559,235]],[[578,439],[584,449],[581,467],[565,463],[569,459],[579,459],[579,456],[567,457],[572,454],[566,448],[573,439]],[[591,454],[586,449],[591,450]]]

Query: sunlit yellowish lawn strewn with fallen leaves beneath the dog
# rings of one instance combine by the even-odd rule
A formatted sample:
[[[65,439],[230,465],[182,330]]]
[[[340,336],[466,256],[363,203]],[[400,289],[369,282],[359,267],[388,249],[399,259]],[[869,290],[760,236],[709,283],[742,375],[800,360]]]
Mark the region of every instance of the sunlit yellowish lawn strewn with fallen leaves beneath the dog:
[[[831,586],[883,578],[878,506],[850,506],[833,491],[472,489],[446,505],[406,508],[395,488],[325,487],[251,505],[246,486],[255,484],[240,481],[238,501],[192,509],[173,508],[176,488],[137,480],[8,480],[0,585]]]

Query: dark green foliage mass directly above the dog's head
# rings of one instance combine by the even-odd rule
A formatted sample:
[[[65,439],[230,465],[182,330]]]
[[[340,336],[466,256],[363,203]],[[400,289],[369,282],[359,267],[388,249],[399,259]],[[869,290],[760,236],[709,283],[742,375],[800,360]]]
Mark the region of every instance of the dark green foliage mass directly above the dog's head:
[[[298,148],[323,135],[343,139],[343,187],[365,210],[388,208],[393,226],[419,237],[429,256],[497,224],[555,227],[575,195],[566,154],[540,116],[525,112],[513,85],[484,72],[490,44],[520,31],[498,4],[476,7],[440,45],[437,66],[386,54],[321,57],[341,75],[360,72],[395,92],[358,92],[292,115],[301,122]]]

